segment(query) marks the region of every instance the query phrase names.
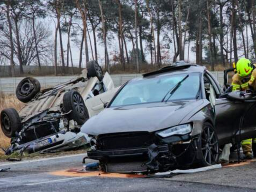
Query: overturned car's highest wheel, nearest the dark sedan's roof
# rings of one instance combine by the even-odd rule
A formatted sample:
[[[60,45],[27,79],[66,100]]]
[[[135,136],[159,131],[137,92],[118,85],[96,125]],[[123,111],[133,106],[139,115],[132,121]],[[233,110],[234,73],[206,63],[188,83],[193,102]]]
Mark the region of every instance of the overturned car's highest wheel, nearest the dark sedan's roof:
[[[97,77],[99,81],[102,81],[104,75],[101,66],[97,63],[97,61],[89,61],[86,64],[87,75],[90,77]]]

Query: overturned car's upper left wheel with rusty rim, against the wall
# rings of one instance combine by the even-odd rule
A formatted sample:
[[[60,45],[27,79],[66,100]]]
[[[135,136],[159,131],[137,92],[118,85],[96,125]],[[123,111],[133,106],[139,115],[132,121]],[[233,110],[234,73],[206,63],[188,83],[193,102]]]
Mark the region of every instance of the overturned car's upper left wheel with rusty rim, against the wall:
[[[23,103],[32,100],[38,92],[40,92],[41,85],[39,81],[33,77],[26,77],[18,83],[16,88],[16,97]]]

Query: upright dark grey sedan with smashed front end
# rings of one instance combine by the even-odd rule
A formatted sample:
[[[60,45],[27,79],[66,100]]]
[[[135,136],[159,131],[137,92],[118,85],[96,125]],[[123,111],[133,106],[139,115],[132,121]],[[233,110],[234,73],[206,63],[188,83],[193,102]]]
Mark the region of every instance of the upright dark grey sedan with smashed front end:
[[[238,134],[239,140],[256,136],[255,100],[242,98],[231,87],[223,91],[198,65],[145,74],[124,84],[107,108],[82,126],[93,138],[88,158],[100,160],[106,172],[213,165],[220,146],[236,142]]]

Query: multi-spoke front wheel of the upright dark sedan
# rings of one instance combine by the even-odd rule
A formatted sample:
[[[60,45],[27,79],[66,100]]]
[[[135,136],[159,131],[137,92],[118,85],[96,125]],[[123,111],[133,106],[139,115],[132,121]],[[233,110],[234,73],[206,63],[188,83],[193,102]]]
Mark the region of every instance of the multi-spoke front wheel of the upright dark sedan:
[[[204,123],[202,133],[197,140],[198,162],[197,167],[206,167],[218,163],[219,141],[214,127],[210,123]]]

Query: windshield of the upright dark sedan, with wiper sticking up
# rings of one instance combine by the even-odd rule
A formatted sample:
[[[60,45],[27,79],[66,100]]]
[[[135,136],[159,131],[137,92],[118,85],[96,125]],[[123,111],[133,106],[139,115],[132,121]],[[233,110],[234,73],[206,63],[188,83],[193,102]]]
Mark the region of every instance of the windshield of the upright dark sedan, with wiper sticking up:
[[[166,92],[172,90],[187,75],[188,73],[165,75],[131,81],[123,87],[110,107],[161,102]],[[200,74],[190,73],[168,101],[196,99],[199,86]]]

